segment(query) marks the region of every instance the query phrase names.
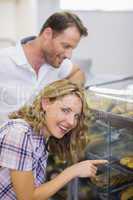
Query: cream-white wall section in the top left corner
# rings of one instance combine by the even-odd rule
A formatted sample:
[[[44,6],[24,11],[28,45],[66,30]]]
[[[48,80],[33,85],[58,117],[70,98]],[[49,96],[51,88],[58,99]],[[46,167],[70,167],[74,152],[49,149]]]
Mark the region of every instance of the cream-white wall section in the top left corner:
[[[38,0],[0,0],[0,27],[0,44],[37,34]]]

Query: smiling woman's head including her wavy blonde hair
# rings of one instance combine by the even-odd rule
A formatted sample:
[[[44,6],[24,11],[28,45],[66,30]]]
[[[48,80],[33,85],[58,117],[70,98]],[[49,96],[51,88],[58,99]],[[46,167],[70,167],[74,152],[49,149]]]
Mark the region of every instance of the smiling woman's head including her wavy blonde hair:
[[[45,137],[50,136],[49,148],[50,144],[56,145],[51,147],[52,152],[61,153],[60,158],[72,159],[73,148],[76,148],[80,155],[81,148],[86,143],[87,113],[84,90],[68,80],[60,80],[45,87],[31,106],[22,107],[12,113],[10,118],[23,118],[37,134],[44,132]],[[69,134],[65,134],[68,132]],[[82,139],[79,141],[80,135]],[[77,146],[78,143],[83,143],[82,147],[81,144]]]

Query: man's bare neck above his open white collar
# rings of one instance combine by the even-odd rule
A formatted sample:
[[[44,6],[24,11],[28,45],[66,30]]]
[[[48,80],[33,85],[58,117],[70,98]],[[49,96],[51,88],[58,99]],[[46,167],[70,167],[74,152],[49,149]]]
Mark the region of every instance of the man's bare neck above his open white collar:
[[[38,74],[40,67],[45,63],[45,59],[36,39],[24,44],[23,48],[28,62]]]

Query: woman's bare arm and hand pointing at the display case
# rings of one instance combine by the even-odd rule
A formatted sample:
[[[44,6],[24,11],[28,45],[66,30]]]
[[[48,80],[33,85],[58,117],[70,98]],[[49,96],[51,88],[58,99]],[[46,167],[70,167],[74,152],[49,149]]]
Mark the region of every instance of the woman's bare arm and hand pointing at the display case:
[[[11,180],[18,200],[46,200],[75,177],[94,177],[97,172],[97,166],[107,163],[107,160],[85,160],[76,163],[37,188],[34,186],[34,178],[31,171],[11,170]]]

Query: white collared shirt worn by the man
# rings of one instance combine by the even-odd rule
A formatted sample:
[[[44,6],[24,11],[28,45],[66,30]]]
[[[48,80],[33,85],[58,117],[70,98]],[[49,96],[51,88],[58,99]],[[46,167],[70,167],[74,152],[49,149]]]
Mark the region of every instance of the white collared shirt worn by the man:
[[[29,103],[46,85],[67,77],[72,63],[65,59],[56,69],[41,66],[38,75],[28,63],[20,42],[0,51],[0,124],[9,113]]]

